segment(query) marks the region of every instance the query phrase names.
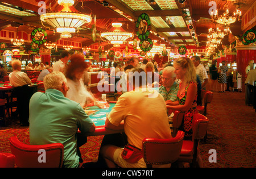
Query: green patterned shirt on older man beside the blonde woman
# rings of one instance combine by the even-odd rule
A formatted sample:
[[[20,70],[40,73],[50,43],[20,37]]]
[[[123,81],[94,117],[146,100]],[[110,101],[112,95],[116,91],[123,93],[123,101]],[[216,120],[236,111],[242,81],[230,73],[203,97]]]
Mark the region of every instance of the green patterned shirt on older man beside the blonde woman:
[[[162,94],[164,101],[177,101],[177,91],[179,91],[179,84],[176,82],[174,82],[169,91],[163,85],[159,87],[159,94]]]

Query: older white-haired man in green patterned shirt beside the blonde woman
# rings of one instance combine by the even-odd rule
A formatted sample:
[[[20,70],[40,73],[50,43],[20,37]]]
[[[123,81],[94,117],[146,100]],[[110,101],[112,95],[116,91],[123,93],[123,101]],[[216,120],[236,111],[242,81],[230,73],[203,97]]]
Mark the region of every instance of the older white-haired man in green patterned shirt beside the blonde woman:
[[[174,73],[175,68],[172,66],[166,66],[163,69],[162,82],[163,85],[159,87],[159,93],[163,95],[164,101],[177,101],[177,91],[179,91],[179,84],[175,82],[176,75]]]

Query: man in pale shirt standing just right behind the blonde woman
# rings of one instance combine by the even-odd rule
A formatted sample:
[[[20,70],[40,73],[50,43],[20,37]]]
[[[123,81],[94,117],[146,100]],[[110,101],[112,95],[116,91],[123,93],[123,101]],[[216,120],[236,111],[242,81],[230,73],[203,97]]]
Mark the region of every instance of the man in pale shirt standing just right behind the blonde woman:
[[[200,64],[201,58],[199,56],[192,56],[191,60],[193,61],[193,64],[195,66],[196,74],[199,75],[201,81],[201,88],[206,90],[206,86],[209,83],[207,70],[202,64]]]

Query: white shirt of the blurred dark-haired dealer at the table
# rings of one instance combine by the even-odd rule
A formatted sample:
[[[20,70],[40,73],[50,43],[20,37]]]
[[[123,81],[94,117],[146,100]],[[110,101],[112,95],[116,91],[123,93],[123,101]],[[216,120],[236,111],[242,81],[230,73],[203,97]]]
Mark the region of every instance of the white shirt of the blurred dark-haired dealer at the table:
[[[90,95],[90,93],[86,90],[82,78],[76,82],[67,78],[67,84],[69,87],[67,98],[80,103],[82,107],[84,107],[86,103],[86,97],[92,98],[92,95]]]

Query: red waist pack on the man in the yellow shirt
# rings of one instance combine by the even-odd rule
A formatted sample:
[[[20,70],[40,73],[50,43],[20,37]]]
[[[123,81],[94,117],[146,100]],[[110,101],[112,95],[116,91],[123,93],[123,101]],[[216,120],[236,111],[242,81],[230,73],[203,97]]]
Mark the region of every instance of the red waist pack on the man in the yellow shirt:
[[[123,148],[122,158],[131,164],[137,163],[142,157],[143,153],[141,149],[133,145],[127,144],[125,148]]]

